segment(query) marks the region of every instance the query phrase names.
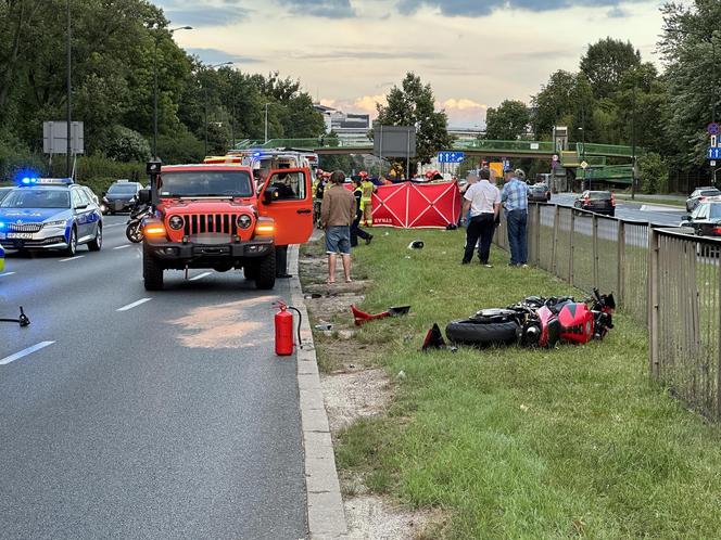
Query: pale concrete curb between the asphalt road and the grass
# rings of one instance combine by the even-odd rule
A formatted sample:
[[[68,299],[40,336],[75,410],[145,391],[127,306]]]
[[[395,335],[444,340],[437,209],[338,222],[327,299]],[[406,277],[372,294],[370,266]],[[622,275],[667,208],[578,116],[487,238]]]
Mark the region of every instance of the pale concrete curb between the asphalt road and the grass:
[[[328,415],[322,400],[320,375],[308,312],[299,278],[299,246],[288,250],[288,270],[292,306],[298,308],[301,322],[301,344],[298,347],[298,388],[305,450],[305,491],[308,531],[312,539],[336,539],[347,535],[345,510],[336,470],[333,443]]]

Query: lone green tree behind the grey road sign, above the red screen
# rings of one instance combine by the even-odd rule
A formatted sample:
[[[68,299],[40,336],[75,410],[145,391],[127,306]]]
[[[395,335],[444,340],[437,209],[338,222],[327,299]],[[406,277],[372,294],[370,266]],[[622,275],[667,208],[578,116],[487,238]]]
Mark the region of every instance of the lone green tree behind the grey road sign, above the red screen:
[[[448,134],[445,111],[435,111],[430,85],[407,73],[401,88],[394,86],[387,97],[388,104],[378,104],[378,121],[383,126],[415,126],[416,154],[421,164],[430,163],[437,152],[453,143]]]

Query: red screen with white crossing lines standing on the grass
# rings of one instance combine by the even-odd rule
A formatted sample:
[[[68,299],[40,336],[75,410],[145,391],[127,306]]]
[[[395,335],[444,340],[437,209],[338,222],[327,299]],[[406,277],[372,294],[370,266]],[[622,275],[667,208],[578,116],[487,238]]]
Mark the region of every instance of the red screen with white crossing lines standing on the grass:
[[[375,226],[445,229],[458,222],[460,193],[455,182],[403,182],[380,185],[372,205]]]

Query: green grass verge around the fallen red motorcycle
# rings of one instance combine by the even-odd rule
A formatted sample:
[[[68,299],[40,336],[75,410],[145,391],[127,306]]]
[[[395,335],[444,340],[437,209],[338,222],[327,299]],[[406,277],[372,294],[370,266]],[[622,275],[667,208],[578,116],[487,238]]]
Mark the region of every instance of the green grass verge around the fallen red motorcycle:
[[[534,269],[459,265],[463,231],[374,231],[354,252],[372,280],[363,308],[412,316],[364,326],[395,377],[384,417],[337,438],[369,489],[451,515],[445,538],[718,538],[721,436],[646,375],[646,333],[617,317],[604,342],[556,350],[418,351],[441,326],[526,295],[577,293]],[[426,247],[407,249],[412,240]]]

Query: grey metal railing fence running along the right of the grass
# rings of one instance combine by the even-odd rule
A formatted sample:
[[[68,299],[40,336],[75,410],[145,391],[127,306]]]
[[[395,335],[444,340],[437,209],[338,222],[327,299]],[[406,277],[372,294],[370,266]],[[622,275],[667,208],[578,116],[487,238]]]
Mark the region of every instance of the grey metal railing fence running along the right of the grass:
[[[495,243],[507,249],[506,220]],[[650,375],[721,420],[721,240],[531,204],[528,246],[530,263],[585,292],[612,291],[619,309],[648,325]]]

